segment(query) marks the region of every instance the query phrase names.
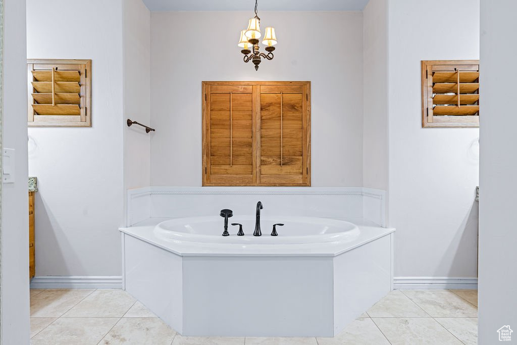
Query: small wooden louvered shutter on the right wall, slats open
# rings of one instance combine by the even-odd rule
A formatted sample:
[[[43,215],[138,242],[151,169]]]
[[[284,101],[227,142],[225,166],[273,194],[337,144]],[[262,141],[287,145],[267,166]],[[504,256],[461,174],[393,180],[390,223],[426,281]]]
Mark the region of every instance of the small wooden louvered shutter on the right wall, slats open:
[[[479,127],[479,61],[422,61],[422,127]]]

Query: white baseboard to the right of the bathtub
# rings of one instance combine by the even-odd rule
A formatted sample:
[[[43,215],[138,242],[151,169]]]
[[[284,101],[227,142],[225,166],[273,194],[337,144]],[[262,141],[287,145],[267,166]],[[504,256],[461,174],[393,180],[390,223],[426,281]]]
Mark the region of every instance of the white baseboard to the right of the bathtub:
[[[394,290],[443,290],[478,288],[476,277],[394,277]]]

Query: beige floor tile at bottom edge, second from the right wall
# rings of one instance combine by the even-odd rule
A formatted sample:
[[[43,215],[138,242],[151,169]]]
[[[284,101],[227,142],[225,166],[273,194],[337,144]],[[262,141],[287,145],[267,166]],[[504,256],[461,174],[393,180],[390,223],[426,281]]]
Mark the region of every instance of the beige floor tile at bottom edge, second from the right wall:
[[[372,318],[392,345],[461,345],[432,318]]]

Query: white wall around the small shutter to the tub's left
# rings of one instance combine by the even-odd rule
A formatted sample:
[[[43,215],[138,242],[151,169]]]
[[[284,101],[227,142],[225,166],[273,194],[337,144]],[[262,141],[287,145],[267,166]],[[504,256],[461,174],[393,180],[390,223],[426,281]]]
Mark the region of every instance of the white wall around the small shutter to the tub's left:
[[[29,174],[38,177],[39,187],[37,276],[121,274],[117,228],[123,224],[126,126],[122,2],[84,4],[27,0],[28,58],[93,60],[92,128],[28,130]]]

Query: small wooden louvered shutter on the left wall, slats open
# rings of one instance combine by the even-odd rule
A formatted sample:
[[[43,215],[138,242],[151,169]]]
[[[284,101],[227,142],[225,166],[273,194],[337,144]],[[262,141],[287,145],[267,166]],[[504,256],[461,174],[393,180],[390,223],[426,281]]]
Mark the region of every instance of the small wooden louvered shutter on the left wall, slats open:
[[[28,126],[91,127],[91,60],[29,59]]]

